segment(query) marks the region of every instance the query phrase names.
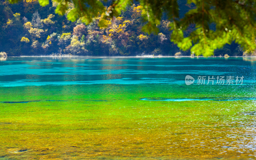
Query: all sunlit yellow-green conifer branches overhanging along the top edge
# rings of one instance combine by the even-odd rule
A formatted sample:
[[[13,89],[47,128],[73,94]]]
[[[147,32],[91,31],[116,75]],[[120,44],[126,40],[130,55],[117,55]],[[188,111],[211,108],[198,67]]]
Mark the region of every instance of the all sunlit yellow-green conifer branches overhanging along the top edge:
[[[9,0],[16,3],[19,0]],[[38,0],[41,6],[49,0]],[[142,17],[147,21],[142,28],[148,34],[158,33],[163,14],[172,21],[171,41],[182,50],[189,50],[196,55],[211,56],[217,48],[235,41],[248,52],[256,48],[252,39],[256,33],[256,3],[254,0],[188,0],[187,4],[195,7],[182,18],[179,17],[177,0],[139,0]],[[118,17],[132,0],[53,0],[57,4],[55,12],[67,14],[68,20],[82,20],[85,24],[94,17],[101,17],[100,27],[107,27],[109,18]],[[70,3],[73,3],[70,8]],[[106,4],[110,4],[106,6]],[[194,29],[184,36],[185,31],[194,25]]]

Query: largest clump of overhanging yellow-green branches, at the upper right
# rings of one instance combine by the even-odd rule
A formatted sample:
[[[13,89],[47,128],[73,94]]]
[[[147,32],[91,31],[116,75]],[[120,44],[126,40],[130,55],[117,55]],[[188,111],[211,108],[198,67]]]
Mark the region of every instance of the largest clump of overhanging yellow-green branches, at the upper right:
[[[211,56],[215,49],[231,44],[232,41],[249,50],[255,48],[255,44],[251,43],[256,27],[255,11],[252,9],[255,8],[255,3],[212,3],[211,0],[193,3],[196,9],[188,11],[179,23],[173,22],[174,35],[172,34],[171,41],[180,49],[190,48],[196,55]],[[191,24],[196,24],[195,30],[188,37],[183,37],[181,31],[184,32]],[[215,29],[211,29],[210,24],[215,24]]]

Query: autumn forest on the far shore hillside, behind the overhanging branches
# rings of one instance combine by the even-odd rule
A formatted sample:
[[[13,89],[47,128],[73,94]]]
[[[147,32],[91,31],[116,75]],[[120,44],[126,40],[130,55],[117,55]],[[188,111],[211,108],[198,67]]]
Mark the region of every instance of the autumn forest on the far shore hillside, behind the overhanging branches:
[[[193,8],[186,1],[179,1],[180,16]],[[108,7],[106,2],[106,8]],[[141,14],[139,4],[132,4],[122,11],[119,17],[99,27],[102,15],[93,18],[89,25],[81,19],[74,22],[66,16],[55,14],[56,4],[42,7],[37,0],[23,0],[17,4],[0,1],[0,52],[8,56],[71,54],[86,56],[135,56],[135,55],[170,55],[180,49],[170,41],[172,31],[170,21],[161,21],[158,34],[148,35],[141,31],[146,23]],[[74,7],[68,4],[68,12]],[[193,31],[191,25],[185,34]],[[235,44],[226,44],[222,49],[214,51],[215,56],[228,54],[243,55],[243,49]],[[244,53],[245,55],[246,53]],[[181,51],[181,55],[190,55],[189,51]]]

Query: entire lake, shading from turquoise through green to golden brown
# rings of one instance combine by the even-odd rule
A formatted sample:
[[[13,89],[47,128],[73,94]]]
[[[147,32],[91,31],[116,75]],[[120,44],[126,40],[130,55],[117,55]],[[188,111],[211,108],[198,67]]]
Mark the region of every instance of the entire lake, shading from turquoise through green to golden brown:
[[[256,158],[253,57],[8,57],[0,93],[0,159]]]

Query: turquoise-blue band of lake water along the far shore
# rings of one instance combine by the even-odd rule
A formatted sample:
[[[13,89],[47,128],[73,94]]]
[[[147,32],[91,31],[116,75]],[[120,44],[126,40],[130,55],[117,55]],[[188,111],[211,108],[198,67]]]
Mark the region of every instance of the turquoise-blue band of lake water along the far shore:
[[[245,61],[251,60],[251,61]],[[244,76],[255,84],[255,59],[244,58],[97,58],[50,59],[19,57],[0,61],[0,86],[68,84],[185,84],[190,75]],[[240,80],[240,79],[239,79]],[[235,83],[235,80],[234,80]],[[209,83],[208,85],[211,85]]]

